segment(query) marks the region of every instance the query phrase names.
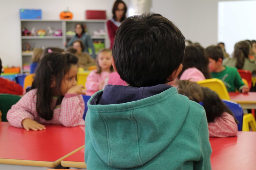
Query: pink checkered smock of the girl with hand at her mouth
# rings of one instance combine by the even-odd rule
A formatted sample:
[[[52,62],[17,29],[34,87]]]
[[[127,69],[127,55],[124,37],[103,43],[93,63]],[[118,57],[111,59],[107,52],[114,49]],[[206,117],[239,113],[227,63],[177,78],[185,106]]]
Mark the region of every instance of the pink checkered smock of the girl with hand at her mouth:
[[[62,124],[66,127],[85,125],[83,120],[84,101],[81,95],[66,94],[60,105],[56,106],[57,98],[52,99],[53,117],[47,121],[39,117],[36,111],[36,91],[26,93],[7,113],[8,122],[15,127],[22,128],[22,121],[26,118],[41,124]]]

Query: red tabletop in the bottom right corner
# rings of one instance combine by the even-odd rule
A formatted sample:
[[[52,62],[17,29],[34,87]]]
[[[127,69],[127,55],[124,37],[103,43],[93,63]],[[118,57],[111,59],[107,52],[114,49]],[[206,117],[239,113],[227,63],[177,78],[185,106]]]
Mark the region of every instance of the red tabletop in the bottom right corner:
[[[256,169],[256,132],[239,131],[236,137],[210,138],[212,170]]]

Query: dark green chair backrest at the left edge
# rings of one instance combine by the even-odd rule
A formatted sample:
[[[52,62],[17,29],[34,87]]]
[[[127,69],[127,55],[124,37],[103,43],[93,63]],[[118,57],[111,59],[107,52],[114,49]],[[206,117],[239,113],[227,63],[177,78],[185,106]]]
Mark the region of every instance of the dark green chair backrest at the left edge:
[[[6,114],[13,104],[17,103],[21,96],[0,94],[0,110],[2,112],[2,121],[7,122]]]

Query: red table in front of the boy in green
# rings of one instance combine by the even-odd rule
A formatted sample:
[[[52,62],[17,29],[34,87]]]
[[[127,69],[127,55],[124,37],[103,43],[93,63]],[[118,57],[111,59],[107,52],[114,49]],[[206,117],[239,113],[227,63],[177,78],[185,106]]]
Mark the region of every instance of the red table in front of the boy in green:
[[[256,109],[256,92],[248,94],[229,92],[231,101],[237,102],[243,109]]]

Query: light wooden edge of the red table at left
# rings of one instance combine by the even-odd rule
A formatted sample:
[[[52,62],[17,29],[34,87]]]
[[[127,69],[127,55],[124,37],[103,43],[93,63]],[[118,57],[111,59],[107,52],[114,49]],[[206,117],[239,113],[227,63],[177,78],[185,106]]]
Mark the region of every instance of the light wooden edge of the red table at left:
[[[10,164],[10,165],[24,165],[24,166],[41,166],[41,167],[50,167],[54,168],[58,165],[60,165],[61,161],[68,156],[76,153],[77,151],[84,148],[84,145],[77,148],[76,150],[68,153],[67,155],[61,157],[60,159],[54,161],[54,162],[48,162],[48,161],[32,161],[32,160],[20,160],[20,159],[4,159],[0,158],[0,164]]]

